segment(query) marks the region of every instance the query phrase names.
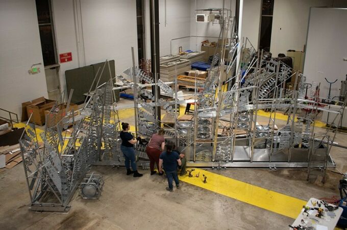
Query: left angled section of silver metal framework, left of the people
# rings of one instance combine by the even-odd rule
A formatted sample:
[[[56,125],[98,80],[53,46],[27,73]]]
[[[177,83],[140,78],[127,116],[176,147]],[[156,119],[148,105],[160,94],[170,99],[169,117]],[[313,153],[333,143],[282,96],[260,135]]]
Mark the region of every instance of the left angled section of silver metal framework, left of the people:
[[[104,68],[108,64],[105,62]],[[104,69],[103,68],[103,69]],[[100,79],[102,72],[97,77]],[[97,85],[97,84],[96,84]],[[96,87],[80,114],[62,116],[57,104],[46,115],[39,148],[35,125],[30,123],[19,140],[32,211],[66,212],[80,182],[92,164],[120,165],[119,119],[114,107],[113,79]],[[72,133],[67,128],[72,125]]]

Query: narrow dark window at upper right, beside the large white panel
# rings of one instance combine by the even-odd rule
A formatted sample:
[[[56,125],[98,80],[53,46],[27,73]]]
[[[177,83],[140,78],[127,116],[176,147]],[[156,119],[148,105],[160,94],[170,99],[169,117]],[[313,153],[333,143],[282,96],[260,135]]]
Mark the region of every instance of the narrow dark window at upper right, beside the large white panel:
[[[259,48],[270,51],[274,0],[263,0],[262,6]]]

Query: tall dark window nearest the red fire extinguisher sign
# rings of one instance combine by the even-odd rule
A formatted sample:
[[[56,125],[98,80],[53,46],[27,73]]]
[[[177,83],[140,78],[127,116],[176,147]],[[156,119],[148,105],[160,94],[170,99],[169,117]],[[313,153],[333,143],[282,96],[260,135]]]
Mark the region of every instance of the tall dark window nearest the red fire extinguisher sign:
[[[56,44],[53,30],[51,1],[36,0],[41,49],[44,66],[57,64]]]

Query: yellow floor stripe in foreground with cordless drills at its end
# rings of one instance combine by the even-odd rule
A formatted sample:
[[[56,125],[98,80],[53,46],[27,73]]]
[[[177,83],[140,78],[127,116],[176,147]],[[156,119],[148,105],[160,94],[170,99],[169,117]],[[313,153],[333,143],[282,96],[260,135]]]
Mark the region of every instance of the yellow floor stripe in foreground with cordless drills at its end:
[[[198,172],[200,172],[199,178],[195,177]],[[188,177],[188,174],[186,174],[180,177],[180,180],[293,219],[298,217],[303,206],[307,203],[305,200],[237,181],[203,169],[195,168],[192,174],[193,177]],[[203,175],[207,177],[206,184],[203,183]]]

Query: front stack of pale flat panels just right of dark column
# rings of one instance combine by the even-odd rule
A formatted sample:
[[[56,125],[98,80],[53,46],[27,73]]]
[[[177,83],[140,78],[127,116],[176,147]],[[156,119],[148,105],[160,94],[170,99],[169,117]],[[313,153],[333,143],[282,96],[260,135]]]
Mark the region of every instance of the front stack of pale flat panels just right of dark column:
[[[190,61],[186,59],[163,63],[160,64],[160,79],[164,82],[175,81],[176,76],[182,75],[190,69]]]

